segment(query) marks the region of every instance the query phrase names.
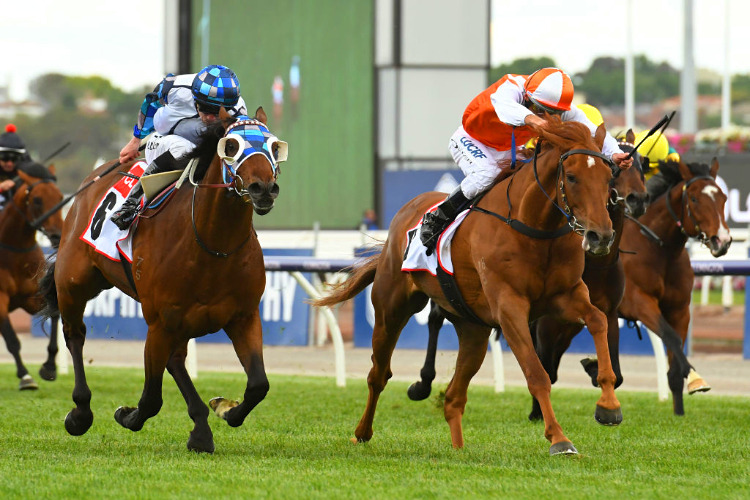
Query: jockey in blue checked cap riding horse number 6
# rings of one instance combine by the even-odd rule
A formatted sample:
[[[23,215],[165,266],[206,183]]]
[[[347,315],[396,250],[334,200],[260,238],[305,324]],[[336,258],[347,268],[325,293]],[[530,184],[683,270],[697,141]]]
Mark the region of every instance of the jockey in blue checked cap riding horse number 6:
[[[120,151],[120,163],[135,159],[141,139],[155,131],[146,146],[149,165],[143,175],[184,167],[177,160],[195,148],[200,134],[218,119],[222,107],[232,116],[247,114],[237,75],[226,66],[210,65],[196,74],[167,75],[153,92],[146,94],[133,138]],[[122,208],[112,215],[117,227],[130,227],[142,194],[139,182]]]

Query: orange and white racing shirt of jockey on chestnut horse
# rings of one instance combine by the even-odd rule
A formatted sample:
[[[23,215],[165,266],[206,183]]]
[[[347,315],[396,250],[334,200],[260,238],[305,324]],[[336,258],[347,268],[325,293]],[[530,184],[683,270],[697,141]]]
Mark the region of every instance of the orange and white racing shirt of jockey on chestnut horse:
[[[477,141],[498,151],[510,151],[514,135],[517,148],[526,144],[535,136],[533,129],[525,124],[526,117],[532,114],[523,105],[523,87],[527,78],[528,75],[505,75],[476,96],[464,111],[464,130]],[[577,106],[562,113],[560,118],[583,123],[592,135],[596,133],[597,126]],[[622,153],[609,133],[604,138],[602,153],[609,158],[614,153]]]

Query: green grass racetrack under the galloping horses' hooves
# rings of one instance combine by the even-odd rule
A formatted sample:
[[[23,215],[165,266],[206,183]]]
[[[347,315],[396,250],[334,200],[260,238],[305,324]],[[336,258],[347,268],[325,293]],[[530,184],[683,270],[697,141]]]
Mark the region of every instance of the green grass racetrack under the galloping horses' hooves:
[[[0,365],[3,498],[750,498],[743,397],[691,397],[678,418],[653,393],[619,391],[623,424],[603,427],[593,418],[597,389],[553,387],[557,418],[580,454],[550,457],[543,426],[526,418],[524,388],[470,387],[466,446],[454,450],[435,396],[415,403],[407,384],[391,382],[373,439],[354,445],[364,380],[342,389],[330,378],[272,375],[243,426],[211,415],[216,452],[198,455],[186,449],[192,421],[168,374],[162,410],[140,432],[113,414],[137,403],[142,370],[87,375],[94,424],[73,437],[63,427],[72,371],[19,392],[15,368]],[[238,398],[244,383],[240,374],[201,372],[196,387],[208,401]]]

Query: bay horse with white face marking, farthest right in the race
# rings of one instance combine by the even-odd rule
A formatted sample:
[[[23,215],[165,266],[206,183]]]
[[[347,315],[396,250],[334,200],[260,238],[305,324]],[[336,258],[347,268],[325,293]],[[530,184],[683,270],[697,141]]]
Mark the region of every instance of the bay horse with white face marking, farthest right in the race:
[[[696,238],[714,257],[727,253],[732,243],[724,220],[726,194],[716,184],[719,162],[712,164],[667,162],[660,167],[671,179],[666,194],[652,202],[639,222],[626,221],[622,248],[625,296],[620,315],[641,321],[658,335],[668,350],[667,379],[676,415],[683,415],[682,391],[688,379],[693,394],[710,387],[692,369],[683,352],[690,324],[690,300],[695,276],[685,244]],[[590,372],[593,377],[595,371]]]

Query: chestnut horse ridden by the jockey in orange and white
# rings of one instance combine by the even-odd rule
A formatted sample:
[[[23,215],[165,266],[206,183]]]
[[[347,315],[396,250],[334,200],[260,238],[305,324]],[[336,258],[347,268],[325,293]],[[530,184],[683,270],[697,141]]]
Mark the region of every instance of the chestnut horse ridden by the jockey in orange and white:
[[[444,405],[454,447],[464,444],[461,419],[469,383],[484,359],[490,330],[501,327],[523,369],[529,392],[541,404],[550,454],[577,453],[555,419],[550,380],[529,332],[529,320],[543,314],[588,325],[602,366],[602,396],[595,417],[606,424],[622,420],[607,351],[606,318],[589,301],[581,280],[582,248],[606,254],[614,239],[606,210],[612,172],[598,152],[605,131],[600,127],[594,140],[582,124],[561,122],[557,117],[549,117],[548,123],[537,130],[541,147],[533,165],[495,185],[473,208],[481,213],[470,213],[451,243],[456,283],[476,319],[454,307],[430,273],[401,271],[407,230],[442,200],[440,193],[426,193],[406,204],[391,222],[381,253],[358,266],[330,295],[314,302],[317,306],[334,305],[374,282],[373,366],[367,378],[367,407],[354,433],[357,441],[372,438],[375,407],[392,375],[390,360],[396,341],[408,319],[430,298],[446,311],[458,332],[456,371]],[[502,223],[497,218],[513,220]],[[558,231],[567,223],[583,238],[573,232],[560,236]],[[547,238],[532,238],[514,227]]]

